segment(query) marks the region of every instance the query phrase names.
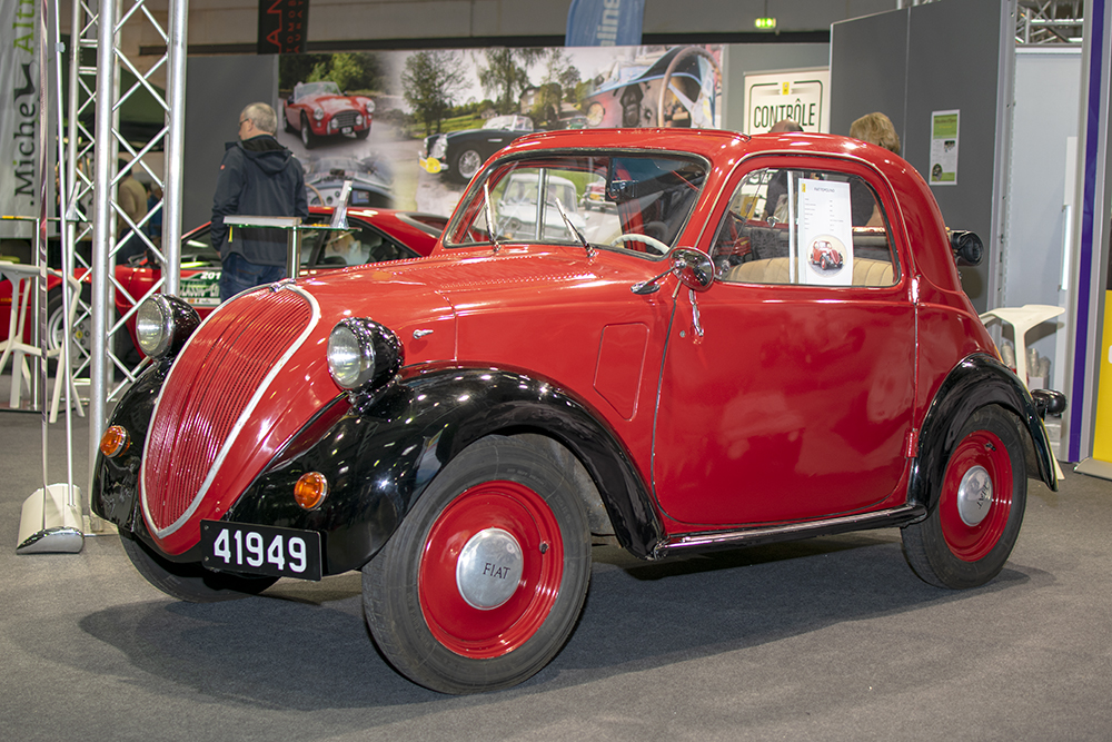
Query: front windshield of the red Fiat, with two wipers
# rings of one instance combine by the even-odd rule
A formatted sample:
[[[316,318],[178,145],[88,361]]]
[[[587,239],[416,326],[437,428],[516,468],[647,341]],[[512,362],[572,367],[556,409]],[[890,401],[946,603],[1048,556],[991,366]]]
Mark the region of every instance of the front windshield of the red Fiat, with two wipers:
[[[705,162],[674,155],[575,152],[505,161],[476,179],[445,245],[579,245],[582,235],[594,247],[664,255],[691,217],[706,174]],[[589,196],[599,192],[602,199]]]

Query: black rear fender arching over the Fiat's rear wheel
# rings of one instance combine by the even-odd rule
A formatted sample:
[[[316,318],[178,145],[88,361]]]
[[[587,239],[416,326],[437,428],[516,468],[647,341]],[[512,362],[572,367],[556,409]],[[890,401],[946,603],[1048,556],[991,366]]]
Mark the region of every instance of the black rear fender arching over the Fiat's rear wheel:
[[[934,507],[946,462],[957,434],[977,409],[996,405],[1010,413],[1024,444],[1029,478],[1058,491],[1058,475],[1046,429],[1031,395],[1006,366],[985,354],[964,358],[946,375],[934,395],[919,438],[919,456],[912,468],[909,503]]]

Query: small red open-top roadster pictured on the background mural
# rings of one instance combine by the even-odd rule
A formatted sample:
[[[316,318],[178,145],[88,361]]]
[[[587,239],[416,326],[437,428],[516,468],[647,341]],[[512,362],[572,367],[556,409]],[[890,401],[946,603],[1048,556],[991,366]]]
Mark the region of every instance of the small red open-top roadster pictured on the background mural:
[[[282,126],[297,132],[306,149],[321,137],[350,135],[366,139],[375,113],[375,101],[367,96],[349,96],[330,81],[298,82],[282,101]]]

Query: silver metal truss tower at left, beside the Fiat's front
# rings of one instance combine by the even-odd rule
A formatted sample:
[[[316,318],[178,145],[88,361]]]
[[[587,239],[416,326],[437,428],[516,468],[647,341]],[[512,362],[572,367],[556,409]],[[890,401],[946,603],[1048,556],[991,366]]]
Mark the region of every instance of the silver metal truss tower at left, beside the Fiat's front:
[[[54,0],[53,10],[62,0]],[[159,3],[161,6],[161,3]],[[96,461],[100,435],[108,418],[108,406],[119,398],[135,379],[142,364],[121,349],[130,349],[127,321],[146,298],[127,295],[116,278],[115,266],[121,250],[132,249],[136,240],[142,253],[162,267],[155,290],[178,291],[181,244],[181,174],[185,142],[185,89],[188,0],[169,0],[167,22],[156,18],[146,0],[101,0],[93,6],[73,0],[70,24],[69,99],[66,106],[64,161],[60,170],[61,202],[66,219],[62,229],[63,271],[88,274],[81,301],[66,337],[72,340],[75,373],[89,384],[89,461]],[[161,11],[161,8],[158,8]],[[120,40],[125,24],[129,32],[152,30],[166,42],[166,53],[142,67],[129,59]],[[145,46],[145,50],[148,47]],[[91,63],[92,60],[96,63]],[[121,86],[121,70],[127,70],[128,87]],[[156,80],[165,78],[165,89]],[[59,100],[61,92],[59,91]],[[165,112],[163,126],[147,141],[125,136],[120,112],[137,97],[156,101]],[[93,122],[90,130],[89,122]],[[163,168],[147,159],[161,149]],[[118,161],[129,165],[120,168]],[[162,189],[161,204],[138,222],[123,211],[118,187],[127,172],[142,168],[152,184]],[[149,234],[149,224],[159,209],[161,235]],[[118,230],[117,225],[122,229]],[[122,233],[122,234],[118,234]],[[91,249],[79,250],[79,245]],[[85,255],[83,255],[85,254]],[[86,255],[88,257],[86,257]],[[122,291],[131,308],[116,311],[115,293]],[[91,484],[91,471],[89,482]],[[91,486],[90,486],[91,491]]]

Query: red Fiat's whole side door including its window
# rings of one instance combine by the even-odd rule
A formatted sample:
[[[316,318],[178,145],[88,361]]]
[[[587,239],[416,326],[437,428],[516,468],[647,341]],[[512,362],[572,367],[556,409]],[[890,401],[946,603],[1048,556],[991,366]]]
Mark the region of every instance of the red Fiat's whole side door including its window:
[[[785,198],[766,204],[782,180]],[[881,507],[907,467],[916,347],[882,184],[836,161],[754,167],[733,184],[701,245],[715,284],[677,296],[654,426],[658,502],[711,527]],[[867,226],[877,212],[882,226]],[[841,266],[811,260],[831,250]]]

